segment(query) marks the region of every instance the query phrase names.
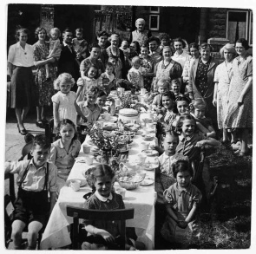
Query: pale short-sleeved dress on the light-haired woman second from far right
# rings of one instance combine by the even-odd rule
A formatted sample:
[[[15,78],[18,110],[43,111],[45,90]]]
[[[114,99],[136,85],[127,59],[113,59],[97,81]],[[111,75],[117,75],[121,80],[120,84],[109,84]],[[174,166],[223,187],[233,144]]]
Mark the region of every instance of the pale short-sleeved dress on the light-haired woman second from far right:
[[[217,89],[217,120],[218,127],[222,129],[224,127],[224,119],[226,117],[227,110],[227,93],[232,78],[232,62],[226,64],[226,62],[220,63],[215,70],[214,82],[218,82]]]

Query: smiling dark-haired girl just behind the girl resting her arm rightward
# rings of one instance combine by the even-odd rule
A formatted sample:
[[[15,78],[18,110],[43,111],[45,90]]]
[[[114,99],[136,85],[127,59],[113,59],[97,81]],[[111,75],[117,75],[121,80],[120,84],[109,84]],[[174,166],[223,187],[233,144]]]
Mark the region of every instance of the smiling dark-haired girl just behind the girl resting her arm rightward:
[[[176,128],[177,125],[177,121],[179,120],[180,116],[182,114],[189,114],[189,104],[191,102],[191,100],[189,99],[189,97],[187,97],[186,95],[181,95],[178,96],[175,100],[175,104],[174,104],[174,114],[176,114],[176,118],[170,119],[169,120],[169,124],[167,127],[167,130],[174,130]]]

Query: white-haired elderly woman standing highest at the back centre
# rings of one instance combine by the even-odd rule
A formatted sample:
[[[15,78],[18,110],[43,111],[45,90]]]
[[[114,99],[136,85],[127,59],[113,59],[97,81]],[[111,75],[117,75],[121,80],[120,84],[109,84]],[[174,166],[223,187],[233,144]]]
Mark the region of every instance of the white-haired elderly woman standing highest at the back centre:
[[[151,37],[151,32],[145,29],[145,20],[143,18],[138,18],[135,22],[136,30],[132,32],[130,36],[130,42],[139,42],[140,46],[146,44],[148,38]]]

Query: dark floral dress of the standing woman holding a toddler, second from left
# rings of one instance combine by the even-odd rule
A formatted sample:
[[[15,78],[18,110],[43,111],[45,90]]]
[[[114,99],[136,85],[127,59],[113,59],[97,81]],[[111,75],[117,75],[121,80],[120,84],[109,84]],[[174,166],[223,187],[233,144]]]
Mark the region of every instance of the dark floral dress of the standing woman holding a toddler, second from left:
[[[43,61],[49,55],[49,45],[45,42],[44,44],[39,44],[36,42],[33,45],[34,48],[34,62]],[[50,80],[46,80],[46,70],[45,65],[37,67],[36,70],[36,88],[39,99],[39,106],[49,106],[51,104],[51,97],[55,94],[53,82],[56,80],[57,67],[56,63],[49,63],[49,77]]]

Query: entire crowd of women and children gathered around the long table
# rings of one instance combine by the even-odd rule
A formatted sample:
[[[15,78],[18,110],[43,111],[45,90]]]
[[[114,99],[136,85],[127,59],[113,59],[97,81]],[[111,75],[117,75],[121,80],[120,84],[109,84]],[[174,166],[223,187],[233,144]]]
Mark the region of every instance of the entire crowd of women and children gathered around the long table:
[[[196,171],[194,162],[199,158],[198,148],[217,146],[218,129],[222,129],[223,144],[237,145],[240,140],[234,153],[248,153],[248,134],[253,127],[253,58],[247,53],[246,39],[240,38],[234,46],[224,45],[220,49],[224,62],[220,63],[211,56],[212,47],[206,42],[187,45],[181,37],[171,40],[167,34],[152,36],[141,18],[136,20],[136,28],[129,40],[121,41],[117,33],[101,31],[98,42],[89,44],[81,28],[75,29],[75,38],[70,29],[61,33],[53,28],[48,42],[46,29],[39,27],[35,31],[38,41],[33,46],[26,43],[28,29],[16,31],[17,42],[10,46],[8,55],[8,74],[10,107],[16,110],[18,131],[27,134],[24,120],[33,106],[36,126],[45,127],[45,108],[52,104],[54,132],[61,137],[51,145],[44,136],[36,137],[32,161],[6,165],[6,172],[19,174],[19,193],[22,192],[12,225],[16,249],[20,248],[25,224],[30,225],[29,247],[35,249],[35,236],[45,223],[44,210],[37,209],[39,206],[31,208],[28,202],[30,192],[37,192],[38,198],[48,186],[52,209],[56,192],[65,185],[81,148],[76,131],[81,130],[81,124],[90,128],[98,120],[111,90],[125,86],[136,93],[145,88],[144,102],[152,105],[160,123],[161,142],[154,149],[160,153],[158,183],[162,177],[170,178],[168,186],[163,188],[161,184],[158,193],[160,203],[167,205],[168,216],[161,230],[167,241],[173,241],[175,235],[175,240],[182,242],[188,231],[196,231],[194,214],[202,191],[191,179]],[[177,153],[183,157],[177,157]],[[48,159],[51,164],[46,163]],[[44,178],[46,168],[49,174]],[[95,195],[87,200],[86,207],[100,209],[103,199],[119,199],[111,194],[111,168],[98,167],[93,175]],[[102,185],[107,190],[102,191]],[[123,207],[122,201],[112,203]],[[92,235],[100,235],[106,243],[113,244],[115,238],[108,226],[99,229],[96,225],[87,222],[86,227]],[[91,244],[83,247],[92,248]],[[128,244],[127,248],[141,247]]]

